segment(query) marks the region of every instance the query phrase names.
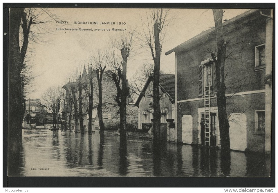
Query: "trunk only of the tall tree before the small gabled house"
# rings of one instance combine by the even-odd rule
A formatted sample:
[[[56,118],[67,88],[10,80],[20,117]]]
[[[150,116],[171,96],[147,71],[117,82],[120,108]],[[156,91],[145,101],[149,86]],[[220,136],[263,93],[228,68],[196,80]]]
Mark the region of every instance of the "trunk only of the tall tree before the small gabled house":
[[[157,24],[154,24],[154,44],[156,57],[154,60],[154,143],[160,144],[160,95],[159,95],[159,76],[160,76],[160,41],[159,41],[159,31]]]

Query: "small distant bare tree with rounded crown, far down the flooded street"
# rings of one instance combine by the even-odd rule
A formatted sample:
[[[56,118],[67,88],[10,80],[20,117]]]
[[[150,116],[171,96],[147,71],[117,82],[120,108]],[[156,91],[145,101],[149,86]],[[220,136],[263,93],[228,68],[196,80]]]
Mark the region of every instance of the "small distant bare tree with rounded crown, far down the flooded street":
[[[46,109],[48,109],[52,114],[53,127],[57,127],[59,120],[61,120],[61,107],[64,105],[63,94],[64,92],[62,90],[62,87],[55,86],[46,89],[42,96]]]

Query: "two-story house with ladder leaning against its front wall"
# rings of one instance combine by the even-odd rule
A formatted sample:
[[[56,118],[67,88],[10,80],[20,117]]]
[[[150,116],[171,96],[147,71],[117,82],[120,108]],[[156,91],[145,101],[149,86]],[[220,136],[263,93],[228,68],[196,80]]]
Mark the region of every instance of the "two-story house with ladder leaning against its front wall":
[[[232,150],[270,151],[271,17],[272,10],[253,9],[223,22],[224,39],[229,41],[225,86]],[[165,53],[176,54],[174,117],[179,143],[221,147],[213,50],[214,27]]]

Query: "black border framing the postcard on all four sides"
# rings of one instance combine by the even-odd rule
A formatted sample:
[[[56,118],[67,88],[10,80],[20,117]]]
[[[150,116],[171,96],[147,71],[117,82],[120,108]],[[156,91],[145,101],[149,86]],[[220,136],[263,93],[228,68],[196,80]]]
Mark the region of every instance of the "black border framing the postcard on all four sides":
[[[272,8],[272,146],[270,178],[207,177],[8,177],[8,13],[12,7],[44,8]],[[6,34],[5,34],[6,32]],[[275,187],[275,3],[3,3],[3,187]]]

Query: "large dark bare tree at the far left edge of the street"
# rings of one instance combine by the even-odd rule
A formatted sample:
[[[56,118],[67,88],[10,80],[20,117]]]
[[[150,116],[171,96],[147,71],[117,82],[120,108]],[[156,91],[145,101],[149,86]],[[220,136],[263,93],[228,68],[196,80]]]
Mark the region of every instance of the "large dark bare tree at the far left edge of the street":
[[[30,83],[28,61],[29,41],[38,42],[39,35],[55,16],[45,9],[10,8],[9,17],[9,138],[19,137],[25,111],[25,86]]]

